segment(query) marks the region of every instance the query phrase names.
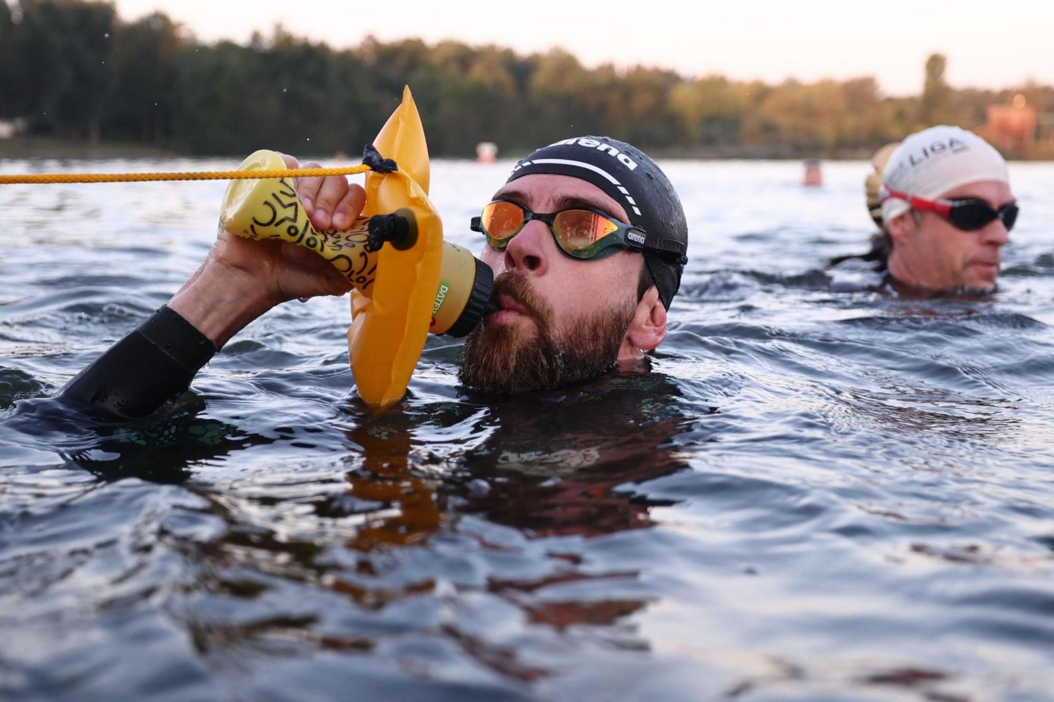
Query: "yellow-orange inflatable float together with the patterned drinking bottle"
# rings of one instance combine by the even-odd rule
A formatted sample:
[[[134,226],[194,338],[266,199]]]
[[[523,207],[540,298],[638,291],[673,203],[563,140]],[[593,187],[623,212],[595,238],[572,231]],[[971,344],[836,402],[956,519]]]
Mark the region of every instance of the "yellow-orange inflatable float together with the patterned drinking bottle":
[[[464,336],[491,310],[493,275],[466,248],[443,241],[428,199],[428,145],[410,88],[367,147],[366,208],[346,232],[318,232],[286,178],[234,180],[220,209],[223,227],[252,239],[281,239],[328,259],[354,285],[348,352],[358,394],[375,409],[398,402],[429,332]],[[371,158],[372,156],[372,158]],[[239,169],[281,168],[256,152]]]

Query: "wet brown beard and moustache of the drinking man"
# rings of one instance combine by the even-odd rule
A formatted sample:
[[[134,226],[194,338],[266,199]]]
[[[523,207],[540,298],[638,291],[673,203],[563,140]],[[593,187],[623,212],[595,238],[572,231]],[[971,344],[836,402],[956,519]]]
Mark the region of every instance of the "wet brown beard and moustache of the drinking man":
[[[480,324],[465,339],[463,383],[484,393],[511,395],[548,389],[593,378],[619,360],[622,339],[633,318],[631,300],[572,320],[567,330],[552,328],[552,307],[520,275],[494,279],[493,296],[506,295],[534,324]]]

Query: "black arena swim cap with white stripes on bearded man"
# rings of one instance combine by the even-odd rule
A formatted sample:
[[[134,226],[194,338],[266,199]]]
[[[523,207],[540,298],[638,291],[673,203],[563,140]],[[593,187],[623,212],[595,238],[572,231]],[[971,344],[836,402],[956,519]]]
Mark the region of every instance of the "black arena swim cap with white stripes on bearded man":
[[[506,182],[535,173],[580,178],[622,205],[629,223],[647,235],[644,262],[669,309],[688,261],[688,224],[674,185],[656,162],[618,139],[574,137],[523,159]]]

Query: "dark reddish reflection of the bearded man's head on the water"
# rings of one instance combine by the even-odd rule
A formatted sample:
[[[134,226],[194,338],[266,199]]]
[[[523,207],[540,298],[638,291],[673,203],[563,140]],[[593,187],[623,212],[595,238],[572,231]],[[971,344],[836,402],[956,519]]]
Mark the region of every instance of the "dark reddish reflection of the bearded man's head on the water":
[[[466,510],[536,537],[650,526],[652,505],[614,488],[686,467],[671,443],[687,419],[680,397],[669,378],[650,374],[495,403],[490,421],[500,428],[483,455],[466,457],[475,480],[487,481],[467,492]]]

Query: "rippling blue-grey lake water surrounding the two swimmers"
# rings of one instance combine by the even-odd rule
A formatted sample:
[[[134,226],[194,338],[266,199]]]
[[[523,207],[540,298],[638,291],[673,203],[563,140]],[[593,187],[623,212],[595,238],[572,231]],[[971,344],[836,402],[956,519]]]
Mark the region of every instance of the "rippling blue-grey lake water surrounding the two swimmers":
[[[448,238],[509,165],[433,164]],[[316,299],[112,426],[44,398],[226,184],[3,186],[0,699],[1054,699],[1054,164],[1011,166],[1000,292],[926,302],[822,270],[865,163],[664,166],[691,260],[650,373],[500,400],[433,337],[372,418]]]

